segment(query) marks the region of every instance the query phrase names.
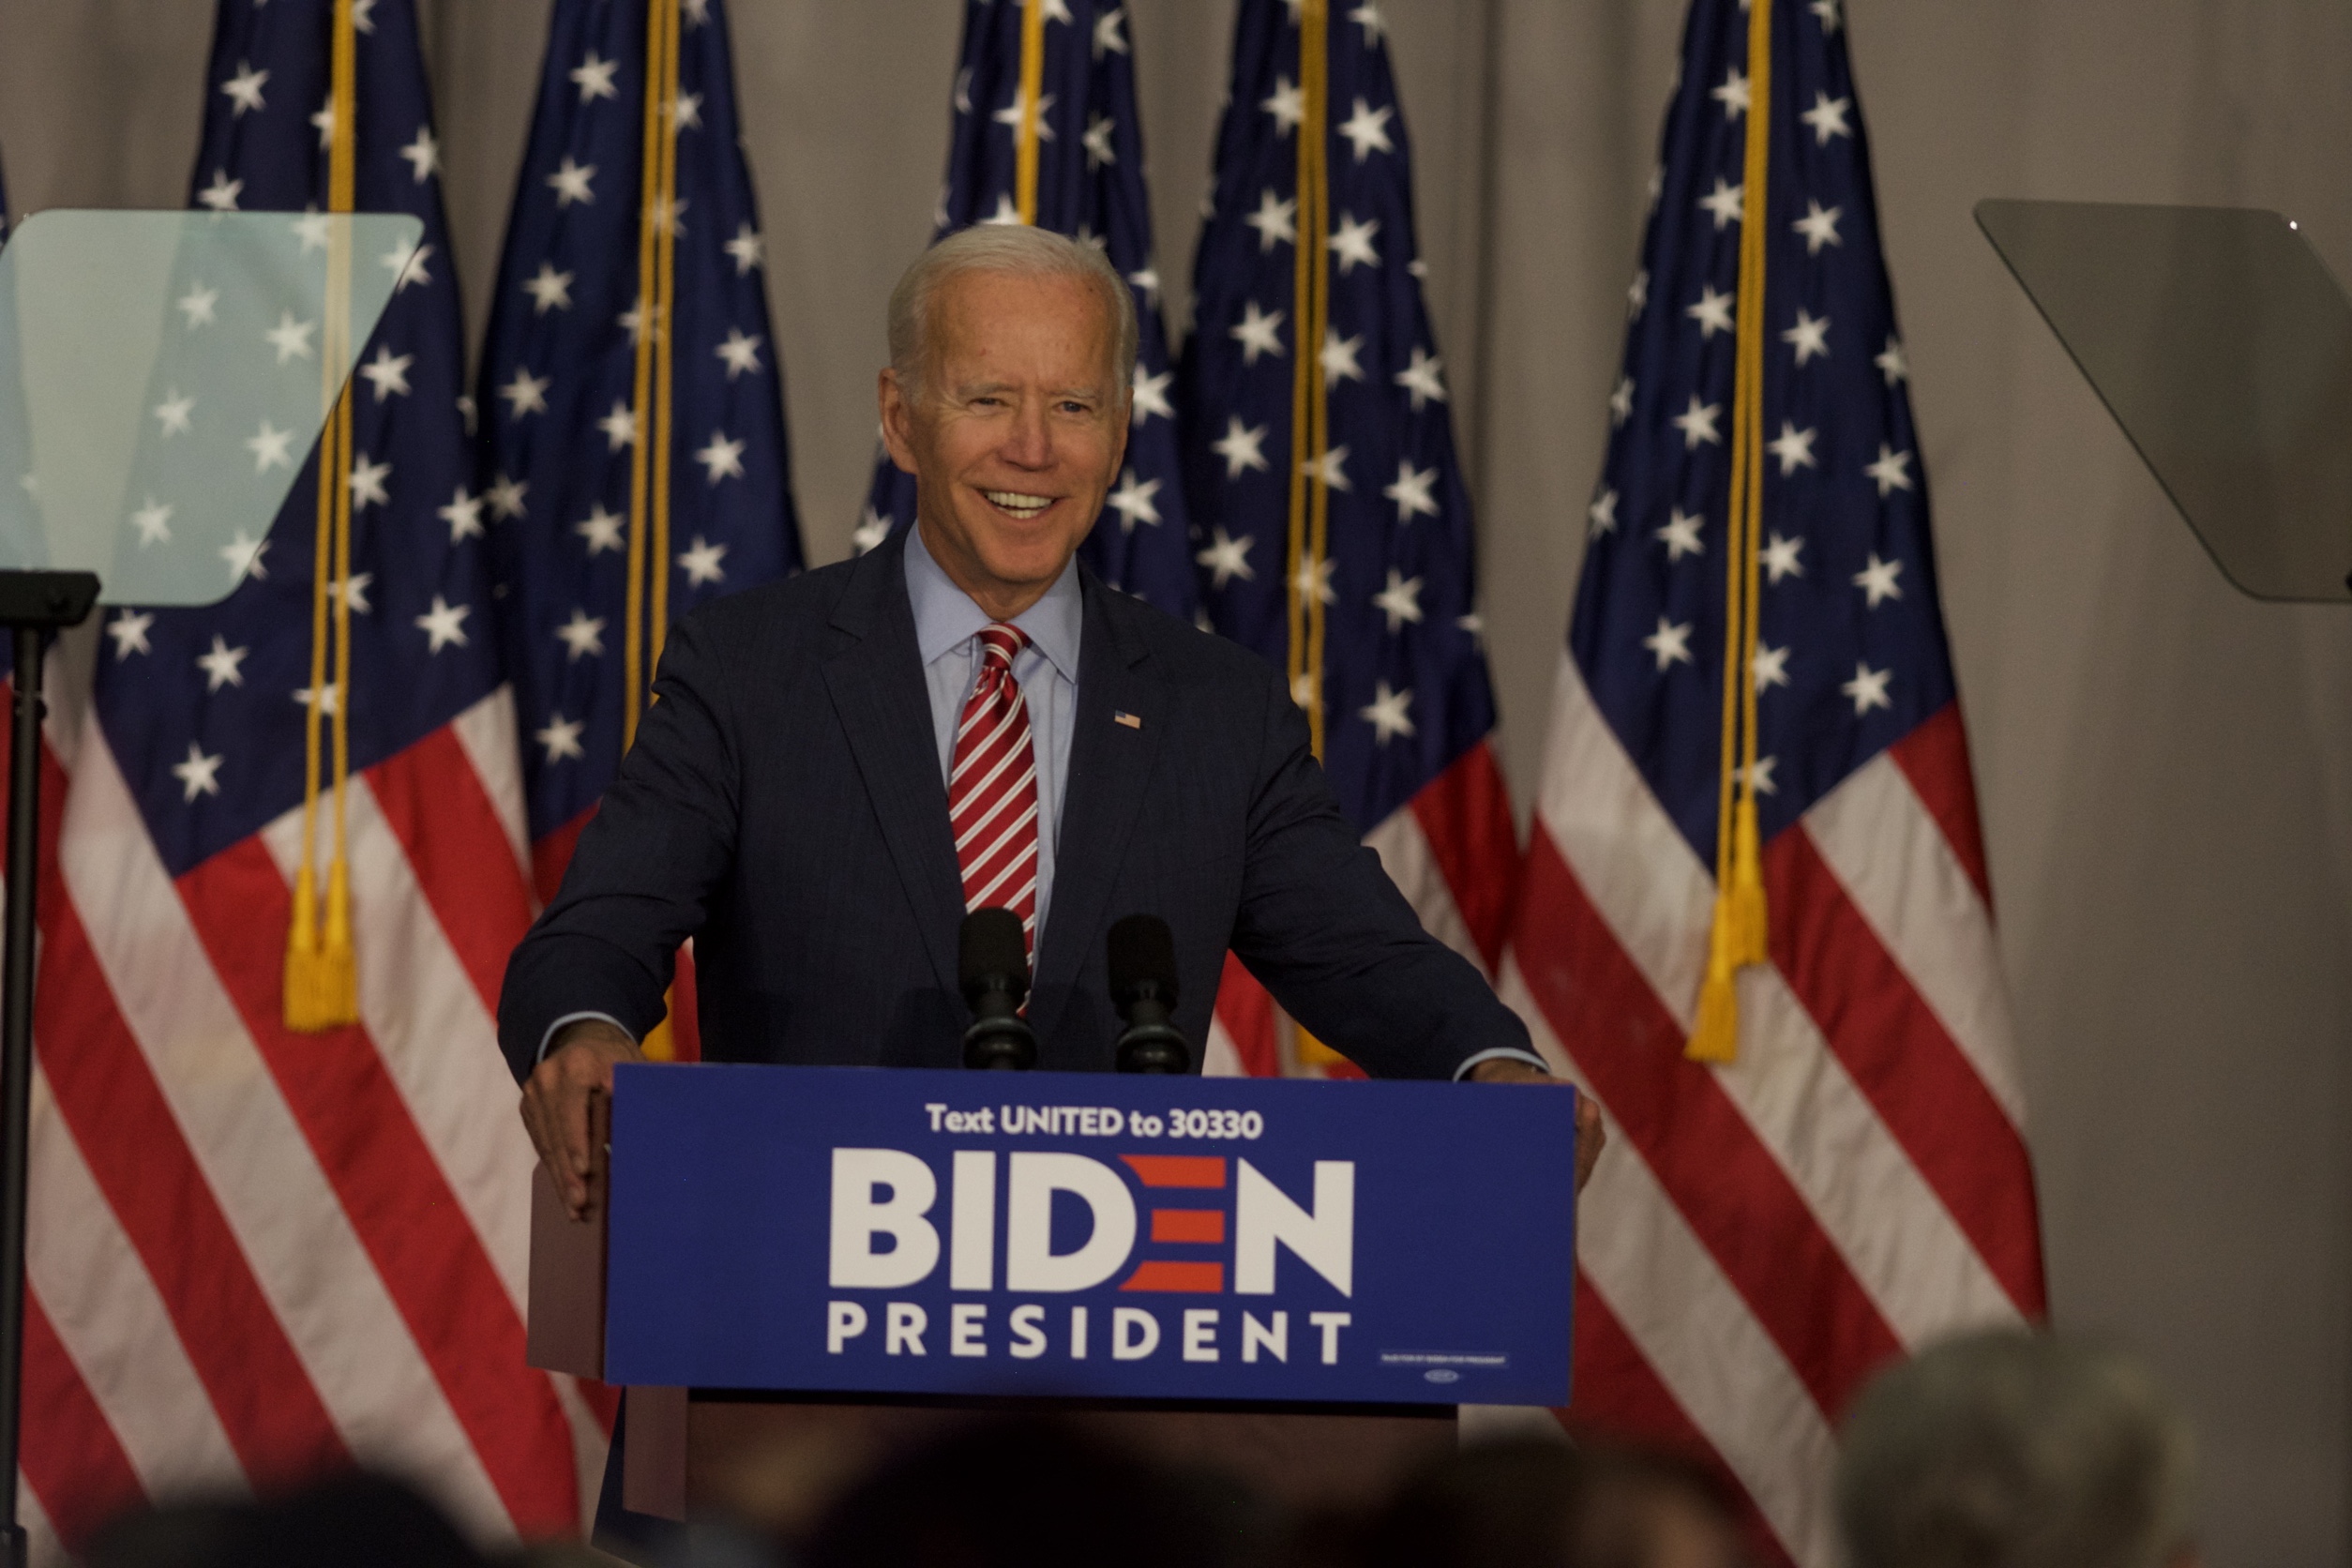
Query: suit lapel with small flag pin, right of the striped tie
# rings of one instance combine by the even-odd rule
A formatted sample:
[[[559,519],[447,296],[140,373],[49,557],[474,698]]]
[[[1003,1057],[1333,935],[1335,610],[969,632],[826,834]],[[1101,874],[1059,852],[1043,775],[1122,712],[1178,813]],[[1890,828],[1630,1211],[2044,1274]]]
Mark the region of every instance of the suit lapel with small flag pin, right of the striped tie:
[[[1143,783],[1169,717],[1167,684],[1150,675],[1143,639],[1124,625],[1117,595],[1091,571],[1080,569],[1080,581],[1087,604],[1077,651],[1077,722],[1054,851],[1054,900],[1037,959],[1040,1013],[1030,1020],[1040,1037],[1051,1037],[1063,999],[1105,929],[1103,903],[1143,809]]]

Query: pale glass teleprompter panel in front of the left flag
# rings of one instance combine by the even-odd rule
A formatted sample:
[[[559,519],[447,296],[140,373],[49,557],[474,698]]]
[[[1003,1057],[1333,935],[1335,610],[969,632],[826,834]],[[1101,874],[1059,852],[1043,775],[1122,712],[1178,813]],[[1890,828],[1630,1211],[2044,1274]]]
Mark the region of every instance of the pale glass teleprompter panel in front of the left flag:
[[[226,597],[421,237],[405,214],[26,219],[0,249],[0,569]]]

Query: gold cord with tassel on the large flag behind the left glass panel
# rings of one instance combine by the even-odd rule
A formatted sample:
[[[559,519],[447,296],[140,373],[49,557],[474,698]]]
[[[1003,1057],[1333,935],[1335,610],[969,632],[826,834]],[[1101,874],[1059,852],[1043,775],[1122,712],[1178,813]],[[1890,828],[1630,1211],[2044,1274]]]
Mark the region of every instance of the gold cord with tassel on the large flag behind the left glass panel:
[[[329,61],[327,212],[355,205],[358,183],[358,26],[353,0],[334,5]],[[310,691],[303,715],[301,867],[294,872],[294,924],[287,931],[282,1013],[289,1030],[325,1032],[360,1020],[360,961],[350,933],[350,870],[343,797],[350,778],[350,228],[327,230],[325,334],[320,402],[327,423],[318,440],[318,524],[310,550]],[[327,684],[329,604],[334,623],[334,684]],[[332,802],[325,929],[320,929],[318,797],[320,726],[332,722]]]

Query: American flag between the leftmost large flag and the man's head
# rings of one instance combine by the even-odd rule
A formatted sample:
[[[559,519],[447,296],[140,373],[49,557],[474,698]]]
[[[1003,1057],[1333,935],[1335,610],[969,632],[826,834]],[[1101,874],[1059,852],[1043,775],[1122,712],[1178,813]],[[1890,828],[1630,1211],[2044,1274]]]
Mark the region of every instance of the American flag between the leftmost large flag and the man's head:
[[[663,9],[677,28],[675,89],[656,66],[649,103],[647,14]],[[652,200],[649,110],[675,146],[673,188]],[[652,357],[668,360],[670,404],[649,411],[637,343],[659,313],[659,280],[640,280],[640,237],[663,228],[675,331],[654,334]],[[480,386],[482,503],[541,900],[621,764],[630,684],[642,693],[652,682],[654,578],[666,576],[675,621],[802,564],[764,259],[720,0],[557,0]],[[659,386],[647,390],[659,402]],[[670,484],[656,529],[652,496],[633,517],[633,465],[661,428]],[[630,668],[637,548],[666,559],[635,564],[642,644]]]

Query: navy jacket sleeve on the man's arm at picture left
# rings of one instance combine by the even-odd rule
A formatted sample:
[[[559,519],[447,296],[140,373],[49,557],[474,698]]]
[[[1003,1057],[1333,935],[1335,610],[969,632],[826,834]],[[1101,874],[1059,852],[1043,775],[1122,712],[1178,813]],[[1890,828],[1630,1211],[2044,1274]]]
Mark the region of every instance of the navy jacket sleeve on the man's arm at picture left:
[[[499,1046],[517,1079],[567,1013],[607,1013],[644,1039],[677,945],[701,931],[734,863],[739,759],[708,621],[670,632],[654,696],[555,903],[506,964]]]

